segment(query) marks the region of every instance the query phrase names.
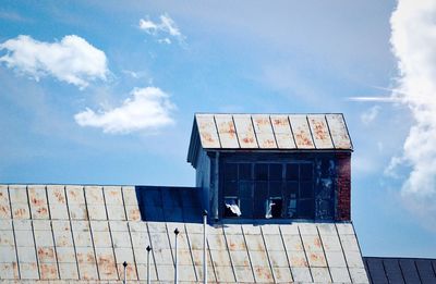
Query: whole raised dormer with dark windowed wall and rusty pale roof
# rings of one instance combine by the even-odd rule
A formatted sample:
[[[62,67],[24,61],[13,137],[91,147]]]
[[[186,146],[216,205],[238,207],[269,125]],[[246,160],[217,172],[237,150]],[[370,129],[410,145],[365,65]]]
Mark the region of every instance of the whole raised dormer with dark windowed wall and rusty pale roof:
[[[350,221],[343,115],[197,113],[187,161],[210,221]]]

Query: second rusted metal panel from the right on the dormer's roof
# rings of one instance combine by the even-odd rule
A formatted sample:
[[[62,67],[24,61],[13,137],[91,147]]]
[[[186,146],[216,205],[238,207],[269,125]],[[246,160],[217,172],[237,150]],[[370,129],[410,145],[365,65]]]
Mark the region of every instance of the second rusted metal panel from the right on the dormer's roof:
[[[325,115],[308,114],[307,120],[316,149],[334,149]]]

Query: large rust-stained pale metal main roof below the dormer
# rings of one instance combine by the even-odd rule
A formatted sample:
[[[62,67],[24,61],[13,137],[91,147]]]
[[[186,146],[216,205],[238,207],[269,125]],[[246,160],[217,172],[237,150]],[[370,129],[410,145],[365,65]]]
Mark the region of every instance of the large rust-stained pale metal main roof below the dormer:
[[[202,280],[198,188],[0,185],[0,280]],[[208,226],[210,283],[368,283],[351,223]],[[1,282],[0,281],[0,282]],[[50,282],[52,283],[52,282]]]

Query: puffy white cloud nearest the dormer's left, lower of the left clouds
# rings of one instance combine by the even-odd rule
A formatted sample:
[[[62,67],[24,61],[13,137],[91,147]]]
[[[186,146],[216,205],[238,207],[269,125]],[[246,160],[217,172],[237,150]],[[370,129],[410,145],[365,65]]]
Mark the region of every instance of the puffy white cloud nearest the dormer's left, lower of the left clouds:
[[[174,123],[171,111],[175,108],[169,96],[156,87],[135,88],[132,98],[113,109],[95,112],[86,109],[74,115],[81,126],[102,128],[105,133],[128,134],[156,131]]]

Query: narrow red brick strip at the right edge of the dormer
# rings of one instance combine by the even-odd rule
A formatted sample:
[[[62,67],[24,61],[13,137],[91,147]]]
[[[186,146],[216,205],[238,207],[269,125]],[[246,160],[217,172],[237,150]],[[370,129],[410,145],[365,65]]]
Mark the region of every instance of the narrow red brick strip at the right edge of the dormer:
[[[336,220],[351,220],[351,153],[337,153]]]

